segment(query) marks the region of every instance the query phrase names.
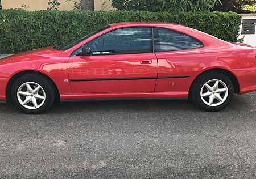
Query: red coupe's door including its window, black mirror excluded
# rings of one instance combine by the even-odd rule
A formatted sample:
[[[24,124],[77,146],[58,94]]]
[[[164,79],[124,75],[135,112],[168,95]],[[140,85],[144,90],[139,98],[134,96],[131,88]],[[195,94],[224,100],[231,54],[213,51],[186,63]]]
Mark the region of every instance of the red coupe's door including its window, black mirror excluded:
[[[87,46],[90,54],[82,56]],[[88,42],[69,59],[73,93],[153,92],[158,62],[152,29],[115,29]]]

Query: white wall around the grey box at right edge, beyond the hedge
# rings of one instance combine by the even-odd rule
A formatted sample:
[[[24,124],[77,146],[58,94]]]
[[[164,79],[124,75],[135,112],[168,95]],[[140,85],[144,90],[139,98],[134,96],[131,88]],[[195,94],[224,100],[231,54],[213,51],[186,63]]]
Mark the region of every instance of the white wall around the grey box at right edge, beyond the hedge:
[[[240,14],[242,15],[242,20],[243,19],[256,19],[256,13],[254,14]],[[244,44],[248,44],[248,45],[253,45],[256,46],[256,32],[254,34],[242,34],[242,24],[240,26],[240,36],[239,38],[242,38],[243,36],[245,36],[245,41],[243,42]]]

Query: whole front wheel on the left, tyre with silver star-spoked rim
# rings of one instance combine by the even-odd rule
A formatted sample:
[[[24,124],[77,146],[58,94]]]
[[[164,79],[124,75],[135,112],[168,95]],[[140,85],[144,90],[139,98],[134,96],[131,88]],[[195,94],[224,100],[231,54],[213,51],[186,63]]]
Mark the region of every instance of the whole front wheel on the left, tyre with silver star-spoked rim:
[[[21,76],[11,87],[11,101],[27,114],[46,112],[53,105],[55,94],[52,82],[37,74]]]

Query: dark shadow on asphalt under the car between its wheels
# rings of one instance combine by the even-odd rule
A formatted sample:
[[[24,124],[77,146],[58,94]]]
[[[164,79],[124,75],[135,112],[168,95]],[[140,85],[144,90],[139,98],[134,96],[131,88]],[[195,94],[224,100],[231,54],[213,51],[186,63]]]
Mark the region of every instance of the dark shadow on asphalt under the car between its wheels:
[[[92,100],[79,103],[57,104],[50,113],[56,111],[85,112],[97,110],[114,111],[158,111],[158,110],[197,110],[188,100]]]

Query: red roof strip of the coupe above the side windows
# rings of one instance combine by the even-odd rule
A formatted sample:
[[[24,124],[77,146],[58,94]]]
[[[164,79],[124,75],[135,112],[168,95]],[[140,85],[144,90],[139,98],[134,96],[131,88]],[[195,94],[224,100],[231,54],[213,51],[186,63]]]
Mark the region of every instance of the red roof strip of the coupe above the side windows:
[[[163,23],[163,22],[122,22],[122,23],[114,23],[109,24],[111,27],[129,27],[129,26],[158,26],[158,25],[171,25],[171,26],[181,26],[185,27],[185,25],[174,24],[174,23]]]

